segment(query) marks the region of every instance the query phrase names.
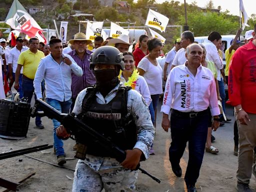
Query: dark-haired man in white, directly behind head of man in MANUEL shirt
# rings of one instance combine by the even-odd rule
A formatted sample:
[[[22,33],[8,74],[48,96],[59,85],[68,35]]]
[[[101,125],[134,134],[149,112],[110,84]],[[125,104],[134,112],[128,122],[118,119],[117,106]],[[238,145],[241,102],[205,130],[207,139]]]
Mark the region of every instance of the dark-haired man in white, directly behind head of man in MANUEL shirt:
[[[170,70],[174,67],[174,66],[177,66],[177,65],[181,65],[181,64],[184,64],[184,62],[186,61],[186,57],[185,57],[185,52],[186,52],[186,47],[193,43],[194,42],[194,35],[191,31],[189,30],[186,30],[184,32],[181,33],[181,39],[180,39],[180,45],[182,48],[180,48],[172,63],[171,63],[171,67],[170,67]]]

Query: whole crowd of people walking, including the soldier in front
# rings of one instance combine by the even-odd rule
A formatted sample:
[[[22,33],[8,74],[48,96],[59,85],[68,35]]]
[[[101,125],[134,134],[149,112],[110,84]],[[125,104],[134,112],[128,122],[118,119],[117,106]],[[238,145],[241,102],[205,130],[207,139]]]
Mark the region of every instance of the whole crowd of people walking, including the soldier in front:
[[[126,158],[118,162],[112,154],[88,143],[86,158],[76,164],[72,191],[135,190],[137,164],[157,153],[153,137],[162,93],[161,126],[171,132],[171,169],[181,176],[179,162],[188,142],[184,180],[188,192],[197,191],[195,183],[204,151],[219,152],[211,143],[215,139],[212,130],[231,120],[225,116],[228,103],[234,106],[235,114],[236,189],[248,192],[251,173],[256,176],[256,25],[246,31],[242,46],[238,40],[241,31],[237,30],[224,52],[225,67],[221,35],[217,31],[210,32],[202,44],[194,41],[191,31],[182,32],[166,53],[163,68],[157,61],[162,55],[161,40],[145,34],[139,37],[132,52],[132,43],[125,34],[106,40],[97,36],[93,44],[78,32],[66,47],[54,36],[48,44],[32,37],[26,45],[18,36],[12,48],[1,38],[2,76],[7,76],[10,88],[6,94],[11,93],[13,84],[20,99],[30,102],[34,93],[35,98],[45,100],[57,110],[74,113],[125,150]],[[162,75],[166,81],[164,92]],[[2,92],[3,82],[0,83]],[[57,163],[63,165],[66,160],[62,139],[70,135],[57,120],[52,121],[54,153]],[[35,128],[44,128],[39,116],[35,118]],[[77,142],[73,149],[79,151],[79,147]]]

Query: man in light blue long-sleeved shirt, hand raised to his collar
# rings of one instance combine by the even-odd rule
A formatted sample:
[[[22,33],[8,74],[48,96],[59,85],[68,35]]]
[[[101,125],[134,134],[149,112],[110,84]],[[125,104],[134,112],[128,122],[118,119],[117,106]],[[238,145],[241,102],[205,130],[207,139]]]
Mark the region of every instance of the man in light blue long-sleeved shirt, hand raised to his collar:
[[[72,59],[70,55],[62,54],[62,43],[58,38],[49,41],[51,53],[40,60],[35,73],[33,86],[37,98],[42,98],[41,81],[45,81],[46,101],[55,109],[68,113],[71,99],[71,71],[77,76],[82,75],[82,69]],[[59,165],[65,161],[63,142],[56,136],[56,128],[60,123],[53,121],[54,149]]]

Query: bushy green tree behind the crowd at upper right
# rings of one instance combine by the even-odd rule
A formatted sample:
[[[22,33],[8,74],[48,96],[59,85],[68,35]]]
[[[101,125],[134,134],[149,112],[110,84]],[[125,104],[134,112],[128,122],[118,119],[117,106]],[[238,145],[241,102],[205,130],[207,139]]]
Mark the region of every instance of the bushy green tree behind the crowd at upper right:
[[[239,27],[239,22],[228,17],[223,13],[194,11],[187,14],[187,22],[194,36],[206,36],[212,30],[218,31],[220,34],[235,33]],[[183,25],[185,19],[183,15],[179,16],[177,24]]]

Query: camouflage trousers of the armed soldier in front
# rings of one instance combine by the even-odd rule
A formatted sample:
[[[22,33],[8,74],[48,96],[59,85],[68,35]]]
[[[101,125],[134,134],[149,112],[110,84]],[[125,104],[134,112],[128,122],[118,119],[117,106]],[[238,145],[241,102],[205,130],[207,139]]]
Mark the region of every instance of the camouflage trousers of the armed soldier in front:
[[[93,170],[82,160],[78,160],[73,179],[72,192],[106,192],[136,191],[135,182],[138,171],[123,167]]]

